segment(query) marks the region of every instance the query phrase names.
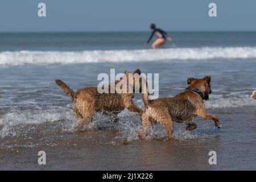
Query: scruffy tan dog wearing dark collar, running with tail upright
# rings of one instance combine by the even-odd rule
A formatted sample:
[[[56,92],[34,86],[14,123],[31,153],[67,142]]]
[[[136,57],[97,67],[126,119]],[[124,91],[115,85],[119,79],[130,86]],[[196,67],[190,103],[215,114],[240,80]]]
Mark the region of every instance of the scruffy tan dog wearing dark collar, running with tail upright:
[[[142,82],[144,112],[142,113],[142,126],[147,129],[152,122],[161,123],[167,131],[167,138],[172,139],[173,122],[187,124],[187,130],[196,129],[193,119],[199,115],[203,119],[212,120],[220,129],[220,122],[216,115],[207,112],[204,100],[208,100],[210,89],[210,77],[202,79],[188,78],[188,88],[175,97],[158,98],[148,100],[148,88],[146,81]],[[146,87],[146,88],[145,88]],[[147,133],[146,133],[147,134]],[[143,132],[139,132],[139,138],[143,139]]]

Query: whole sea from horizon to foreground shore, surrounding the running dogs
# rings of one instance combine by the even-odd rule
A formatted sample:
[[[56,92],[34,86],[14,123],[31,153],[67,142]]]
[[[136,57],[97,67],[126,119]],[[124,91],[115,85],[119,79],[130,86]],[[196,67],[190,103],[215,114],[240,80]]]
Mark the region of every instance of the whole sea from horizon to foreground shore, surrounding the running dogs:
[[[1,33],[0,169],[255,170],[256,32],[169,34],[172,43],[152,50],[143,46],[150,32]],[[159,97],[182,92],[188,77],[211,76],[205,105],[221,129],[197,117],[193,131],[174,124],[175,140],[157,124],[141,141],[141,118],[125,109],[118,123],[98,113],[76,133],[71,100],[55,80],[74,90],[97,86],[98,74],[112,68],[159,73]],[[144,108],[141,94],[134,103]],[[39,151],[46,165],[38,164]]]

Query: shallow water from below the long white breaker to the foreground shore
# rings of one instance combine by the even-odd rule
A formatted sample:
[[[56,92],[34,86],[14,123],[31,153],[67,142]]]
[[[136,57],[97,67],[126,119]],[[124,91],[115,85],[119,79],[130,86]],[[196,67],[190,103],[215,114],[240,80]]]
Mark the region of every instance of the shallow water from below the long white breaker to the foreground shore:
[[[221,129],[197,118],[198,127],[191,132],[175,123],[175,141],[165,141],[165,131],[158,125],[141,142],[139,116],[124,110],[118,123],[97,114],[84,132],[75,133],[70,100],[55,85],[55,78],[78,89],[97,85],[97,74],[110,68],[117,68],[116,72],[141,68],[146,73],[154,69],[160,73],[160,97],[181,92],[191,75],[211,75],[213,94],[205,104],[220,118]],[[0,68],[0,169],[256,169],[256,102],[250,97],[256,89],[253,68],[253,60]],[[134,101],[143,108],[140,95]],[[40,150],[47,153],[44,167],[37,163]],[[217,152],[216,166],[208,164],[211,150]]]

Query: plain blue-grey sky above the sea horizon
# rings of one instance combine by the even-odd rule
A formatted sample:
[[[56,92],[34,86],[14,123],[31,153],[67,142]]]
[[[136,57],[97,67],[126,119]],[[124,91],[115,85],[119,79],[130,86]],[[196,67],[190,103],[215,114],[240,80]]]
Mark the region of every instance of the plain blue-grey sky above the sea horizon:
[[[217,17],[208,15],[210,2]],[[254,0],[1,0],[0,32],[148,31],[150,23],[169,31],[256,31],[255,10]]]

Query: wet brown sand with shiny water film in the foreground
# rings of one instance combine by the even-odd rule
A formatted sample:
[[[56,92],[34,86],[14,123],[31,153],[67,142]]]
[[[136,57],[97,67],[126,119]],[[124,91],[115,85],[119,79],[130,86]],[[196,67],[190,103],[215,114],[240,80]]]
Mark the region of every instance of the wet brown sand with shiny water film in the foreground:
[[[1,139],[0,169],[255,170],[255,123],[250,121],[256,115],[256,108],[236,110],[236,117],[240,117],[237,122],[232,122],[234,115],[229,110],[214,111],[220,117],[221,129],[201,119],[196,119],[198,128],[192,132],[175,123],[176,140],[171,141],[154,139],[154,135],[150,140],[127,141],[124,131],[111,127],[74,133],[50,131],[57,122],[38,125],[35,128],[40,130],[31,131],[26,137]],[[159,130],[162,130],[160,126]],[[15,146],[15,143],[19,144]],[[46,165],[38,164],[41,150],[46,152]],[[208,152],[212,150],[217,152],[217,165],[208,163]]]

